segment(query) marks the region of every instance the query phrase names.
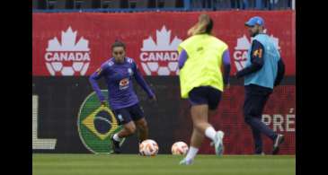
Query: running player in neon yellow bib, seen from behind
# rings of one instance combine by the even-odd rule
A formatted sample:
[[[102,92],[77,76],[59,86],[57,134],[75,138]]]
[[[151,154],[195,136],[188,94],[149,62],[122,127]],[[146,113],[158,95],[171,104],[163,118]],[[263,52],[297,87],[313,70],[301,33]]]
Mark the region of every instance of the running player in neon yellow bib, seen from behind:
[[[190,150],[180,164],[193,162],[204,136],[212,140],[217,155],[223,153],[224,133],[208,123],[208,112],[217,109],[229,84],[230,57],[226,43],[212,36],[212,29],[212,19],[208,14],[200,14],[199,22],[188,31],[191,37],[178,48],[181,95],[191,102],[193,123]]]

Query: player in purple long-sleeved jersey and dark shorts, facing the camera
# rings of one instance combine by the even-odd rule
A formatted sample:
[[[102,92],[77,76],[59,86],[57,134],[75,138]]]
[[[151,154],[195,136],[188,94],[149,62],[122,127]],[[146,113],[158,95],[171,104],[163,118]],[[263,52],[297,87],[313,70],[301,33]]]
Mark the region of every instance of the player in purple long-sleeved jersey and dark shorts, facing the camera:
[[[122,130],[111,137],[114,153],[120,153],[120,141],[122,138],[133,135],[137,129],[139,131],[138,138],[140,143],[148,137],[146,118],[143,109],[139,106],[137,94],[133,89],[132,78],[136,79],[150,100],[156,101],[156,97],[139,73],[135,61],[130,57],[126,57],[125,44],[115,41],[111,45],[111,52],[112,57],[103,63],[90,76],[89,80],[102,105],[106,101],[97,80],[103,77],[107,83],[108,100],[111,109],[120,125],[123,125]]]

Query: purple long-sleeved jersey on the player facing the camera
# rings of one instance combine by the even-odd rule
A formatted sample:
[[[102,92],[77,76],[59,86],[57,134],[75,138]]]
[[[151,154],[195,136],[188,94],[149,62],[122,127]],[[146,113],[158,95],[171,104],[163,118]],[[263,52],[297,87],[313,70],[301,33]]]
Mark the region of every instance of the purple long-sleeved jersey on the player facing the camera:
[[[132,106],[138,102],[137,94],[133,89],[132,78],[145,90],[148,97],[153,97],[154,93],[146,84],[144,78],[139,73],[137,65],[132,58],[125,57],[124,63],[116,63],[112,57],[102,64],[102,66],[93,73],[89,80],[93,86],[100,101],[105,98],[96,80],[103,77],[107,83],[109,103],[111,109],[122,109]]]

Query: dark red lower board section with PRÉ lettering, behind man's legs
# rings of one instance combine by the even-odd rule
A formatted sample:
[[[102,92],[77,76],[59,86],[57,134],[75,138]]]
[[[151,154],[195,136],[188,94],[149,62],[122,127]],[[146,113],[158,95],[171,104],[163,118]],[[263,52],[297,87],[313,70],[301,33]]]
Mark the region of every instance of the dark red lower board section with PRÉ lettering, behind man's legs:
[[[296,87],[295,85],[278,86],[270,95],[262,114],[262,121],[273,131],[285,135],[280,154],[295,154],[296,145]],[[251,127],[244,122],[243,115],[244,87],[233,86],[223,93],[222,101],[216,114],[209,118],[210,123],[225,132],[224,143],[227,154],[254,153]],[[271,153],[273,142],[262,135],[263,152]],[[200,153],[214,153],[206,139]]]

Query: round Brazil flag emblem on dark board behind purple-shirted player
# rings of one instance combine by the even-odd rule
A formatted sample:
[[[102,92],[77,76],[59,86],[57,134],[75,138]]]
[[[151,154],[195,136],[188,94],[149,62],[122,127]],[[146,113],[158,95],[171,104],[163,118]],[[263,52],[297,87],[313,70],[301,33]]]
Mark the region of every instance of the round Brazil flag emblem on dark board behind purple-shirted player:
[[[108,91],[102,90],[108,97]],[[112,153],[111,136],[119,132],[119,126],[111,107],[101,105],[95,92],[89,94],[80,107],[77,128],[84,146],[92,153]],[[123,144],[125,139],[121,141]]]

